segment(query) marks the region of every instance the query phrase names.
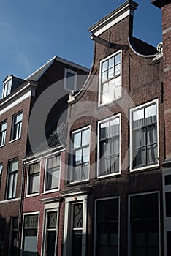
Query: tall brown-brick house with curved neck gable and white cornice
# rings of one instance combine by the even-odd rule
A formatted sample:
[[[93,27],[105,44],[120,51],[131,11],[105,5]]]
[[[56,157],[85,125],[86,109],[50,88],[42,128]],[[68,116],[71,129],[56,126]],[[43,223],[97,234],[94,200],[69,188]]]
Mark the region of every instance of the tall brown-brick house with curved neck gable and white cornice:
[[[132,36],[131,0],[89,29],[93,68],[67,119],[64,256],[170,255],[171,4],[153,4],[163,53]]]

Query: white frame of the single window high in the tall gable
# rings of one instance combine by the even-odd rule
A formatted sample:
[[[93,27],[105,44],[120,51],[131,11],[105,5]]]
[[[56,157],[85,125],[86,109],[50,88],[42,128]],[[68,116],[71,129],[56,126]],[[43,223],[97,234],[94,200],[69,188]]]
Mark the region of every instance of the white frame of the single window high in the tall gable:
[[[113,58],[114,56],[118,55],[118,54],[121,54],[121,73],[120,73],[120,76],[121,76],[121,96],[120,97],[115,97],[115,98],[108,98],[107,99],[107,102],[101,102],[101,97],[102,97],[102,93],[101,93],[101,86],[102,86],[102,63],[104,61],[107,61],[108,59],[111,59]],[[113,78],[117,78],[119,77],[119,75],[116,75],[116,76],[113,76],[112,78],[110,79],[107,79],[106,81],[110,81],[112,80]],[[98,99],[98,103],[99,105],[106,105],[110,102],[113,102],[113,101],[116,101],[118,99],[121,99],[122,97],[122,51],[121,50],[118,50],[117,52],[111,54],[110,56],[107,56],[106,58],[102,59],[101,61],[99,61],[99,99]]]

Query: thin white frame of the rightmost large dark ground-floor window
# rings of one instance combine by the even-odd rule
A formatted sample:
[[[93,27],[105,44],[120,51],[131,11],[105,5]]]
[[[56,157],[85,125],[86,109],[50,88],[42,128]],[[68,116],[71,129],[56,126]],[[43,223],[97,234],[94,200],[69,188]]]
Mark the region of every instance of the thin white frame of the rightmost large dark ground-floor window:
[[[160,221],[160,194],[159,191],[153,191],[153,192],[142,192],[142,193],[136,193],[128,195],[128,256],[131,255],[131,197],[134,196],[140,196],[140,195],[151,195],[151,194],[157,194],[158,195],[158,214],[159,214],[159,256],[161,256],[161,221]]]

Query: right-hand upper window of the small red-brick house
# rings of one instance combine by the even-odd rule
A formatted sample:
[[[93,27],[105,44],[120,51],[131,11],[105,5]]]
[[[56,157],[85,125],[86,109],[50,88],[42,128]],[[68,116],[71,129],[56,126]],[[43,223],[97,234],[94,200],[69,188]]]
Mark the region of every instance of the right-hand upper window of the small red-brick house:
[[[60,178],[60,155],[47,159],[45,190],[58,189]]]

